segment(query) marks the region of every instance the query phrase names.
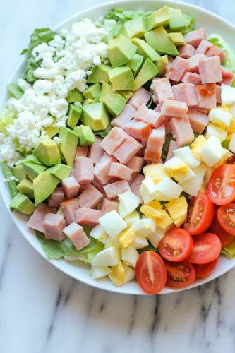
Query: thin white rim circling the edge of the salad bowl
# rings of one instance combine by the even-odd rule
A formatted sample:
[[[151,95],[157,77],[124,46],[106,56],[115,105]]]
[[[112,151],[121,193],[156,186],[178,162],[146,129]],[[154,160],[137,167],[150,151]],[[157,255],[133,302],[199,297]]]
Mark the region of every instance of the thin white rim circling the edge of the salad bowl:
[[[184,11],[200,11],[202,12],[205,16],[209,16],[210,18],[214,18],[215,20],[219,20],[220,23],[222,23],[222,25],[227,25],[228,27],[231,28],[231,30],[234,31],[235,33],[235,25],[232,25],[228,20],[225,20],[224,18],[220,17],[219,15],[212,13],[208,10],[206,10],[205,8],[201,8],[200,6],[196,6],[193,4],[188,4],[188,3],[184,3],[182,1],[174,1],[174,0],[159,0],[159,1],[154,1],[154,0],[150,0],[150,1],[146,1],[146,3],[152,3],[155,4],[156,3],[156,8],[159,8],[161,6],[164,5],[168,5],[168,6],[173,6],[173,7],[179,7],[179,8],[184,8]],[[95,6],[91,6],[89,8],[86,8],[83,11],[78,11],[77,13],[73,14],[72,16],[69,16],[68,18],[65,18],[64,20],[62,20],[60,23],[57,23],[56,25],[53,26],[52,30],[59,30],[60,28],[62,28],[65,25],[68,25],[68,23],[73,23],[76,20],[78,20],[79,18],[84,18],[85,16],[87,16],[89,18],[89,13],[95,10],[102,10],[102,8],[115,8],[115,7],[126,7],[128,6],[128,4],[135,4],[136,8],[138,7],[145,7],[145,1],[144,0],[115,0],[115,1],[107,1],[104,2],[102,4],[98,4]],[[105,9],[106,10],[106,9]],[[97,18],[98,19],[98,18]],[[11,74],[8,82],[11,82],[14,78],[16,78],[16,74],[18,73],[18,71],[20,71],[20,68],[23,66],[23,64],[25,63],[25,58],[22,58],[19,62],[19,64],[16,66],[15,70],[13,70],[13,73]],[[3,90],[3,94],[0,97],[0,108],[2,109],[4,107],[4,104],[6,103],[6,100],[8,99],[8,90],[7,87],[4,87]],[[1,168],[0,168],[1,169]],[[3,182],[4,177],[2,172],[0,171],[0,181],[1,184],[4,184]],[[6,183],[4,185],[4,188],[6,193],[8,194],[8,187],[6,186]],[[72,273],[70,270],[67,270],[65,268],[63,268],[63,266],[61,266],[61,261],[64,263],[66,261],[64,260],[53,260],[53,259],[49,259],[47,258],[47,256],[45,255],[44,251],[42,250],[40,244],[38,243],[39,246],[37,246],[36,244],[34,244],[33,241],[33,237],[32,240],[31,238],[28,238],[27,235],[25,234],[25,231],[23,229],[23,227],[20,226],[20,221],[18,220],[18,218],[20,217],[20,215],[18,213],[16,213],[15,211],[11,212],[10,208],[9,208],[9,202],[8,202],[8,197],[4,195],[4,190],[2,188],[0,188],[0,193],[1,193],[1,197],[4,201],[4,205],[6,206],[6,209],[8,211],[8,214],[11,217],[11,220],[13,220],[13,223],[16,225],[16,227],[18,228],[18,230],[20,231],[20,233],[23,235],[23,237],[28,241],[28,243],[30,243],[30,245],[32,246],[33,249],[35,249],[35,251],[37,251],[37,253],[40,253],[40,255],[46,259],[50,264],[54,265],[55,268],[57,268],[58,270],[61,270],[61,272],[66,273],[66,275],[72,277],[75,280],[79,280],[80,282],[85,283],[86,285],[90,285],[91,287],[95,287],[98,289],[103,289],[106,290],[108,292],[115,292],[115,293],[120,293],[120,294],[134,294],[134,295],[149,295],[146,294],[145,292],[143,292],[140,287],[138,287],[138,289],[134,289],[134,290],[128,290],[126,289],[126,286],[123,285],[121,287],[116,287],[114,285],[112,285],[112,287],[107,288],[107,285],[103,282],[100,282],[100,280],[93,280],[92,281],[92,277],[90,277],[90,280],[86,280],[83,277],[79,277],[76,276],[74,273]],[[17,217],[16,217],[17,215]],[[21,217],[25,218],[25,216],[21,215]],[[26,218],[25,218],[26,220]],[[32,232],[32,236],[35,234],[34,231]],[[225,260],[225,259],[224,259]],[[177,293],[177,292],[182,292],[182,291],[186,291],[188,289],[192,289],[193,287],[198,287],[201,285],[205,285],[207,282],[210,282],[212,280],[215,280],[215,278],[220,277],[221,275],[223,275],[224,273],[227,273],[229,270],[231,270],[231,268],[235,267],[235,259],[234,261],[232,260],[228,260],[226,259],[225,261],[227,262],[227,268],[225,268],[224,270],[221,270],[218,274],[214,274],[212,273],[212,275],[202,279],[202,280],[198,280],[196,282],[193,283],[193,285],[188,286],[186,288],[182,288],[182,289],[170,289],[168,287],[164,287],[164,289],[162,290],[162,292],[160,292],[159,294],[169,294],[169,293]]]

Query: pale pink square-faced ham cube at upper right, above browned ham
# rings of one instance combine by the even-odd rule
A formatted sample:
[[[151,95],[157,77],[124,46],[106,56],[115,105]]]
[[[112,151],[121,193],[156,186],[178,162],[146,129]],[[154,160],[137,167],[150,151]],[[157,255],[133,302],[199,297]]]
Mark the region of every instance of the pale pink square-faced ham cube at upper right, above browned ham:
[[[222,80],[220,60],[218,56],[212,56],[199,61],[199,74],[202,83],[215,83]]]

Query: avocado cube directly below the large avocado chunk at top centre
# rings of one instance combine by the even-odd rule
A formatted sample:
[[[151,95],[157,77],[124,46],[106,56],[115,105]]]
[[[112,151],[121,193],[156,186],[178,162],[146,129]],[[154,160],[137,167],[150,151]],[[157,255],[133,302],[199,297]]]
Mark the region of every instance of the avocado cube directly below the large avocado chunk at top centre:
[[[109,71],[109,80],[113,90],[133,90],[134,88],[134,76],[128,66],[113,68]]]

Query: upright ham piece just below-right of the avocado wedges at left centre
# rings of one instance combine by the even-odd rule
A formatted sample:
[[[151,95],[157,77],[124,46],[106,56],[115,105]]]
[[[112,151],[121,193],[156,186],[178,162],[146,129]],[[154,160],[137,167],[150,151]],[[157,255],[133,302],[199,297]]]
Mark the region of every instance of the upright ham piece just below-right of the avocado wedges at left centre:
[[[73,175],[78,184],[88,184],[94,179],[93,162],[88,157],[78,158],[73,169]]]

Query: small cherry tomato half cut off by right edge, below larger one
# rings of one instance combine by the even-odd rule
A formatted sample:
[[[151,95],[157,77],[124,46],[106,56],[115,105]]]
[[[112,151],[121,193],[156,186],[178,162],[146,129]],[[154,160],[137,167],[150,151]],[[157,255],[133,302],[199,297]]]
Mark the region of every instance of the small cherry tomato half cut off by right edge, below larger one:
[[[225,232],[235,236],[235,203],[220,206],[217,210],[217,220]]]

